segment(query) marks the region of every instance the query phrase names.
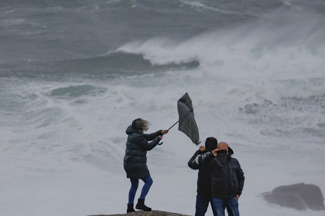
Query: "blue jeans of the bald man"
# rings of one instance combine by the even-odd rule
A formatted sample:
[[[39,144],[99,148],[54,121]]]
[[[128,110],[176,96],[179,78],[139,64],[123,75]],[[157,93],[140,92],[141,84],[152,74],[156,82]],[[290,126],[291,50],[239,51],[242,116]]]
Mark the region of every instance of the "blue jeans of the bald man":
[[[236,197],[232,199],[213,198],[213,207],[217,216],[225,216],[225,208],[227,208],[229,216],[239,216]]]

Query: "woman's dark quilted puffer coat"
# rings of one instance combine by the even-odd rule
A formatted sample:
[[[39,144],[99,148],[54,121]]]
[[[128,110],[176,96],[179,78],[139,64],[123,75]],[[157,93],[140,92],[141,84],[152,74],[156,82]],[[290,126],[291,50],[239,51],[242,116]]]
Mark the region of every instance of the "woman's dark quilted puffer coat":
[[[143,134],[130,125],[126,129],[127,142],[124,156],[124,170],[127,178],[142,179],[150,175],[147,166],[147,151],[153,149],[161,140],[162,130]],[[152,142],[148,143],[148,141]]]

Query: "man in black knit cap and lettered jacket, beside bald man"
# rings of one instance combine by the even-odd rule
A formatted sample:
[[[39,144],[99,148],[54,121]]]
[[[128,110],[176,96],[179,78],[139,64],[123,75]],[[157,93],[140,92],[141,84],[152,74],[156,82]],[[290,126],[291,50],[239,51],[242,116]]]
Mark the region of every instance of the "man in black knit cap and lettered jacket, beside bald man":
[[[207,155],[212,153],[212,150],[217,147],[217,139],[214,137],[208,137],[205,140],[205,147],[200,146],[191,159],[188,161],[188,166],[193,170],[199,170],[198,174],[198,188],[196,196],[195,216],[204,216],[208,209],[209,203],[211,203],[213,215],[213,203],[211,193],[211,172],[208,166],[202,166],[201,160]]]

